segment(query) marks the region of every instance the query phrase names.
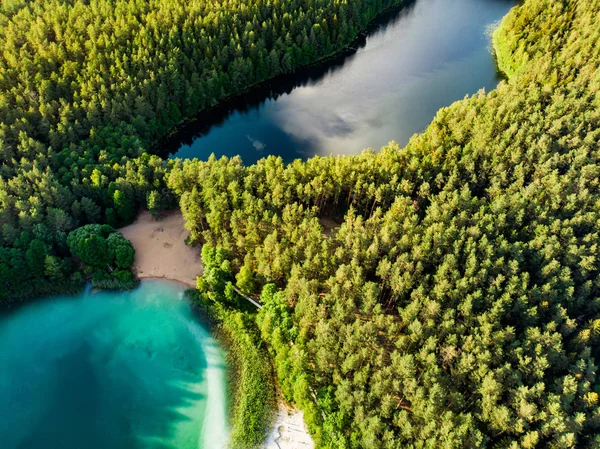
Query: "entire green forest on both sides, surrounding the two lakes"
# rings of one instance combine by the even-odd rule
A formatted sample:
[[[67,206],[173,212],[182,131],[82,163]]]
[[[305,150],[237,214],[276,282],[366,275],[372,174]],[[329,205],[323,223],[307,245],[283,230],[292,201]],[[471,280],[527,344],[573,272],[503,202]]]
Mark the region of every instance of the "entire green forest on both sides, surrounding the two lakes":
[[[317,447],[599,447],[600,2],[514,8],[493,36],[507,80],[404,148],[251,166],[149,153],[392,3],[3,3],[1,294],[80,279],[79,226],[178,206],[204,245],[202,301],[260,298],[244,323]]]

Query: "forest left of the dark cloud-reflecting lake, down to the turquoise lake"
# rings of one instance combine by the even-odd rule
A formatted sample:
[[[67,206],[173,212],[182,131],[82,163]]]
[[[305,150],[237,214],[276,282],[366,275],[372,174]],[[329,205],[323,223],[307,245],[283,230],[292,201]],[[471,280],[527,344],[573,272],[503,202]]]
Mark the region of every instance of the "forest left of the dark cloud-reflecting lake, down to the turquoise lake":
[[[168,164],[147,152],[174,125],[343,48],[400,3],[2,2],[0,299],[77,284],[78,226],[173,207]]]

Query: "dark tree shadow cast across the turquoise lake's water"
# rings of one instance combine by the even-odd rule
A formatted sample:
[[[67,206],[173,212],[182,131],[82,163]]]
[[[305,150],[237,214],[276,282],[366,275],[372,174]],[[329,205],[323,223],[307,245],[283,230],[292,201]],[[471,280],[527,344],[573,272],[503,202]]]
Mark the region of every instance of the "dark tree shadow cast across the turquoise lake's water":
[[[83,341],[57,360],[56,388],[42,398],[43,411],[15,449],[197,448],[198,407],[208,404],[199,402],[205,396],[191,386],[205,380],[204,357],[179,351],[167,359],[141,347],[127,351],[127,363],[115,362],[110,348],[98,354]],[[176,432],[182,423],[197,426],[186,432],[185,441]]]

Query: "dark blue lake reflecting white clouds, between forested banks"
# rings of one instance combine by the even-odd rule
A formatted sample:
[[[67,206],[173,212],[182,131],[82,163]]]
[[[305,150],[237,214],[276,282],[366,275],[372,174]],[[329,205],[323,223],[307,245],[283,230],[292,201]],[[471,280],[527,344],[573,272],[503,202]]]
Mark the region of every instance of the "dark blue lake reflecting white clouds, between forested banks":
[[[285,161],[401,145],[439,108],[500,80],[489,29],[515,0],[417,0],[386,14],[350,55],[278,79],[165,142],[182,158]]]

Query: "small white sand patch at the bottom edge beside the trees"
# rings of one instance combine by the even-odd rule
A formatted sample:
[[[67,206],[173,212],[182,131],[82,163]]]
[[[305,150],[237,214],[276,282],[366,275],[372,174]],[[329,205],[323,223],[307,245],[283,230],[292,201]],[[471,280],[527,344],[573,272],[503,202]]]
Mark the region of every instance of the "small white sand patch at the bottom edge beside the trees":
[[[304,414],[280,401],[275,424],[263,449],[314,449],[314,447],[315,443],[304,424]]]

